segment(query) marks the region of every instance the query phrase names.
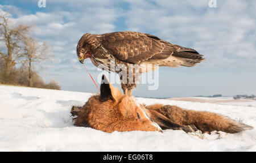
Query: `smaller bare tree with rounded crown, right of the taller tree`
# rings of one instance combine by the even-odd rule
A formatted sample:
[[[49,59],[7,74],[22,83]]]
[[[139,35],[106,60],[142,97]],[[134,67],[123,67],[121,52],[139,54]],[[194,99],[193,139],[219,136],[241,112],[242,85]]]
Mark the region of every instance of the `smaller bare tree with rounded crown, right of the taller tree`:
[[[32,63],[40,63],[50,58],[49,48],[46,42],[38,42],[32,37],[26,38],[24,41],[24,63],[28,67],[28,82],[29,86],[33,87],[32,79]]]

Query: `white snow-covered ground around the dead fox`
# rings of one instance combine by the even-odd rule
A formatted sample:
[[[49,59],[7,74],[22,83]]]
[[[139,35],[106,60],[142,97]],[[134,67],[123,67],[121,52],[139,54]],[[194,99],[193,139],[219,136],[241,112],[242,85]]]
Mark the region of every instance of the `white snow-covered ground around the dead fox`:
[[[256,151],[256,107],[137,98],[144,104],[170,104],[221,113],[253,126],[250,131],[204,139],[178,130],[113,132],[73,126],[72,105],[91,93],[0,85],[0,151]]]

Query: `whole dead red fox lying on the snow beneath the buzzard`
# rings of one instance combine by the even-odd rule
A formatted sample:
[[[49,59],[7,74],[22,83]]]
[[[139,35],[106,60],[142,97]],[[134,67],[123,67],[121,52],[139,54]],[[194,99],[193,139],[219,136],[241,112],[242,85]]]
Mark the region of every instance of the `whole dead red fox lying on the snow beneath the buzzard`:
[[[105,132],[162,131],[166,129],[191,132],[224,131],[236,133],[253,127],[233,121],[220,114],[194,111],[172,105],[141,105],[133,96],[123,95],[102,76],[100,95],[89,98],[81,108],[73,106],[76,126],[92,127]],[[189,125],[189,126],[188,126]]]

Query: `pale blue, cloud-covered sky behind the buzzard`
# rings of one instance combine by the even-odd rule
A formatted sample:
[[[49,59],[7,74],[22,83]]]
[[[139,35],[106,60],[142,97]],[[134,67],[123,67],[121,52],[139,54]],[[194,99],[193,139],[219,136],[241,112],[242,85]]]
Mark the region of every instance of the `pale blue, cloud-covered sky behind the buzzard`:
[[[159,88],[150,91],[148,84],[139,84],[132,95],[256,94],[255,0],[216,0],[216,7],[209,7],[209,0],[45,1],[40,8],[37,0],[1,0],[0,12],[9,12],[14,24],[33,25],[31,35],[48,43],[55,58],[41,75],[57,80],[63,90],[97,92],[76,55],[84,33],[137,31],[196,49],[206,61],[195,67],[160,67]],[[89,59],[85,65],[95,80],[102,74]]]

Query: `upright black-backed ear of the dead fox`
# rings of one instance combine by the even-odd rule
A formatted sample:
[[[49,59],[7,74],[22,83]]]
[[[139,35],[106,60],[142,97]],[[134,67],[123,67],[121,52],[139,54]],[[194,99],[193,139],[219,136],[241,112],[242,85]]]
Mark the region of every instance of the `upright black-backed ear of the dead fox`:
[[[115,102],[119,102],[123,94],[117,87],[113,87],[105,75],[101,77],[101,100],[107,101],[112,98]]]

